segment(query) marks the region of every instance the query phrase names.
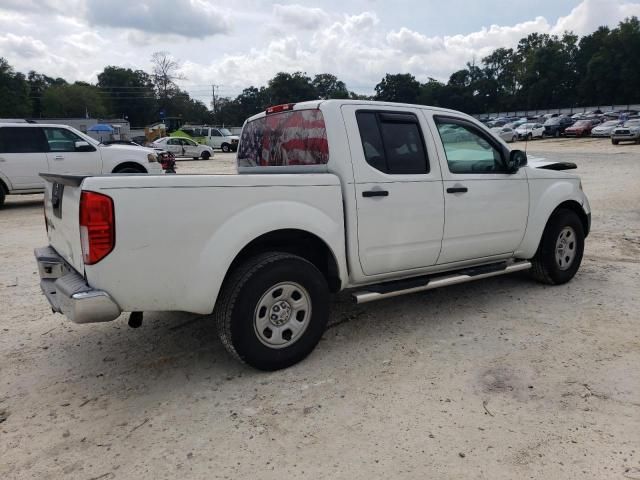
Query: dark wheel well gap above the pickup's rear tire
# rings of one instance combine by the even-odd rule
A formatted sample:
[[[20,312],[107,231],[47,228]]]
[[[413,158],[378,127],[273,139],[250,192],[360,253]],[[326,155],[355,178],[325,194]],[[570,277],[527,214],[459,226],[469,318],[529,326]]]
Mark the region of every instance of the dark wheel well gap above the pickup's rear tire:
[[[247,258],[269,251],[287,252],[310,261],[327,279],[332,292],[340,290],[340,272],[331,249],[320,237],[296,229],[276,230],[252,240],[236,255],[226,276]]]

